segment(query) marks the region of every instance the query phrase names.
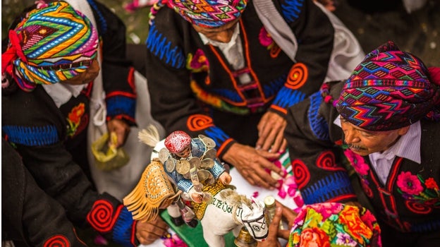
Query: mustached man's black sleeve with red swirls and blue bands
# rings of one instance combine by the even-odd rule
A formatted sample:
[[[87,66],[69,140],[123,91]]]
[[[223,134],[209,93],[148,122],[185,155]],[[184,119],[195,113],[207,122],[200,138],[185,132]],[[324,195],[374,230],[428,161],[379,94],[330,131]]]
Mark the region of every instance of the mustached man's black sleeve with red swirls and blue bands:
[[[338,95],[342,83],[332,92]],[[292,160],[295,181],[306,204],[356,200],[346,169],[341,163],[341,128],[333,121],[338,116],[320,92],[288,111],[285,136]]]

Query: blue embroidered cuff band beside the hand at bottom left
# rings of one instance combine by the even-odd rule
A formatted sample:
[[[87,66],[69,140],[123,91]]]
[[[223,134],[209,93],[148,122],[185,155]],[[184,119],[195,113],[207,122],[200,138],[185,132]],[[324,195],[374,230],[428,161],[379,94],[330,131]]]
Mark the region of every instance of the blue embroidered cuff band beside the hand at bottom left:
[[[133,224],[133,215],[127,210],[127,207],[121,209],[119,215],[115,215],[118,219],[114,225],[113,240],[122,246],[132,246],[131,244],[131,227]]]

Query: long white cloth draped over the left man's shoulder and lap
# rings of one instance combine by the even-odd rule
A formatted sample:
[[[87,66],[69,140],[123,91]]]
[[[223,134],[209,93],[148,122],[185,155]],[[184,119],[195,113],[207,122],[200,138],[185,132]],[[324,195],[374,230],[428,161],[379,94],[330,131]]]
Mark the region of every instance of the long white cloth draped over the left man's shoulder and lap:
[[[92,8],[87,0],[66,0],[71,4],[75,10],[85,14],[90,19],[92,25],[95,27]],[[101,54],[98,53],[98,61]],[[99,64],[102,68],[101,64]],[[131,127],[130,134],[123,145],[123,149],[130,157],[130,161],[125,166],[114,169],[112,171],[102,171],[97,169],[94,164],[94,157],[92,154],[92,143],[107,132],[106,126],[106,104],[105,93],[102,86],[102,71],[99,71],[98,77],[94,80],[92,95],[90,98],[90,123],[87,128],[87,156],[90,164],[90,172],[92,179],[97,187],[99,193],[107,192],[115,198],[122,200],[133,188],[138,184],[142,171],[144,171],[147,164],[149,164],[149,156],[152,148],[148,145],[139,143],[138,131],[146,128],[149,124],[157,127],[159,135],[164,136],[164,128],[154,121],[151,116],[151,103],[149,101],[149,92],[147,89],[147,78],[142,76],[138,71],[135,71],[135,88],[136,88],[136,113],[135,120],[138,127]]]

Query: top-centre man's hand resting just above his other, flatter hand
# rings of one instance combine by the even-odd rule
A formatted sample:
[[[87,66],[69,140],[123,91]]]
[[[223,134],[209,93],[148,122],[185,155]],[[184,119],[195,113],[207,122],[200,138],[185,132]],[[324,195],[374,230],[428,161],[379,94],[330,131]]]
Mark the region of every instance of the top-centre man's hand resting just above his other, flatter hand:
[[[286,119],[274,112],[266,112],[259,120],[257,150],[270,152],[283,152],[286,150],[287,141],[284,139]]]

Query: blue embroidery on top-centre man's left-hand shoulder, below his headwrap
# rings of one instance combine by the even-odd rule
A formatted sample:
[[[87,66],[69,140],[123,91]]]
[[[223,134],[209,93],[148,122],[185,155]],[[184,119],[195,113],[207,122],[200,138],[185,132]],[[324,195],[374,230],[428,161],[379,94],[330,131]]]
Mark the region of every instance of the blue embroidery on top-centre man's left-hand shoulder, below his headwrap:
[[[149,49],[154,56],[159,56],[159,59],[164,59],[164,56],[166,56],[166,64],[174,68],[185,67],[183,51],[179,47],[173,47],[173,49],[171,49],[171,41],[167,41],[166,37],[159,33],[156,29],[156,25],[154,25],[154,21],[149,28],[146,44],[147,49]]]

